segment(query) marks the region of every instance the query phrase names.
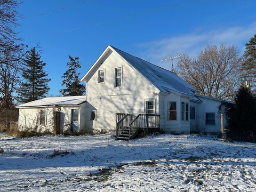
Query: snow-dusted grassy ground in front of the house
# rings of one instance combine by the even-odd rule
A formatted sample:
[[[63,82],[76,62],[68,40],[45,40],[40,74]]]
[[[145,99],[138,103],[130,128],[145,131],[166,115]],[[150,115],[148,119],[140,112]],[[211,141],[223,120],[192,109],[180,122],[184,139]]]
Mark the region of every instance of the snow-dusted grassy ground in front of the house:
[[[0,191],[256,191],[256,145],[213,136],[0,135],[0,148]]]

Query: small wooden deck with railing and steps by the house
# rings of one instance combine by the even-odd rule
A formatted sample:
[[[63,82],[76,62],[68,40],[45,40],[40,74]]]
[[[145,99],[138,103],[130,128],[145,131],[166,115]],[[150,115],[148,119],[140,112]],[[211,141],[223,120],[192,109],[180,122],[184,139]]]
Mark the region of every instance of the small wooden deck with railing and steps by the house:
[[[129,140],[160,129],[160,115],[156,114],[116,114],[116,138]]]

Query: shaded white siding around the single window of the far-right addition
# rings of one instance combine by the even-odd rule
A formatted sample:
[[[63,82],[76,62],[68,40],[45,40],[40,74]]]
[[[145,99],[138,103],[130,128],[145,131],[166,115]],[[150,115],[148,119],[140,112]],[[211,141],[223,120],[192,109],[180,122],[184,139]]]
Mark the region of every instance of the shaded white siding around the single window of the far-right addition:
[[[198,104],[199,132],[220,133],[221,122],[220,122],[220,114],[218,113],[218,110],[219,110],[219,106],[221,105],[221,101],[203,98],[203,97],[198,97],[198,98],[200,100],[202,100],[202,102]],[[206,113],[214,113],[215,114],[215,125],[206,125],[205,124]],[[226,121],[224,121],[224,126],[226,126]]]

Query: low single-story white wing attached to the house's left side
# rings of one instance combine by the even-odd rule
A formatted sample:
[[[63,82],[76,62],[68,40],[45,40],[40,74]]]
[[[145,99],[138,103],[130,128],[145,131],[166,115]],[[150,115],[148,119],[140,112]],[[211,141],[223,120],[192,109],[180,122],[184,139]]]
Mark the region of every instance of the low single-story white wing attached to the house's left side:
[[[49,97],[19,106],[18,130],[52,132],[78,131],[85,127],[85,96]]]

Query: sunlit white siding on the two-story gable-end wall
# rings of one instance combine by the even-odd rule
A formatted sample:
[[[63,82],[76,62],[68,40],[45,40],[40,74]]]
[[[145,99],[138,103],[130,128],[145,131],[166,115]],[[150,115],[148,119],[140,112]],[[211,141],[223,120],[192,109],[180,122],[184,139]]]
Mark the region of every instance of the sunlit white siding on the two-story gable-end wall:
[[[100,67],[94,70],[87,82],[86,127],[89,129],[116,129],[116,113],[138,115],[145,113],[145,100],[154,99],[155,113],[158,113],[158,97],[153,93],[159,90],[137,70],[111,52]],[[114,87],[114,70],[122,67],[122,86]],[[98,83],[98,71],[105,70],[105,82]],[[90,120],[91,111],[96,111],[96,119]]]

